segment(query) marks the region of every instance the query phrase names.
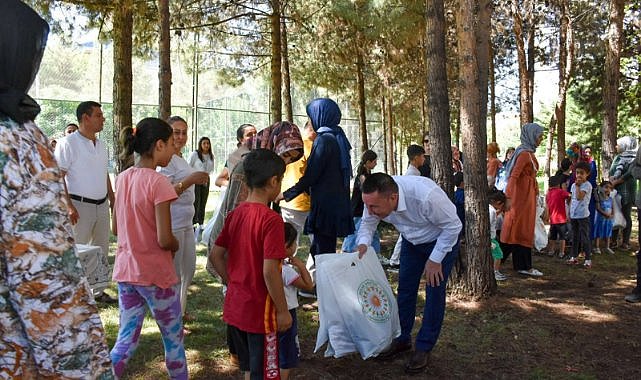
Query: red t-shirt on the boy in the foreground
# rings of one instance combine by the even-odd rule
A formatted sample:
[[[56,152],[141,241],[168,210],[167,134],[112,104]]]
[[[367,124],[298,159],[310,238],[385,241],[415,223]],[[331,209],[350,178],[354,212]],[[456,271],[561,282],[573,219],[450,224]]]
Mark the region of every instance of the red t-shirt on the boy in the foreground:
[[[287,257],[283,219],[261,203],[243,202],[227,215],[216,245],[227,249],[223,320],[250,333],[275,331],[276,309],[265,285],[263,263]]]

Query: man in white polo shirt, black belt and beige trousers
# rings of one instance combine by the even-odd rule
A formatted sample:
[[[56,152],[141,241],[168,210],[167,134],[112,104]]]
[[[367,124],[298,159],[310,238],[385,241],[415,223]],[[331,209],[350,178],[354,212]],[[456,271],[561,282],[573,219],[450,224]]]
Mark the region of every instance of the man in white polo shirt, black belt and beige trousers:
[[[109,209],[114,193],[107,172],[107,148],[96,134],[102,131],[105,117],[101,105],[82,102],[76,109],[79,129],[62,139],[55,156],[65,178],[69,218],[76,243],[97,245],[100,257],[84,262],[85,275],[96,301],[115,303],[104,293],[111,278],[109,253]]]

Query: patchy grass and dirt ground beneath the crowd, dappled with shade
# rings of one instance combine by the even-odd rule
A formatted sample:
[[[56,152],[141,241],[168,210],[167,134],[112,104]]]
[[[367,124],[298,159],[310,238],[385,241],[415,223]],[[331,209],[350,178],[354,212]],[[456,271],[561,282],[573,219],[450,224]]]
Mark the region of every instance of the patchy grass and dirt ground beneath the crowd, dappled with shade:
[[[211,217],[213,202],[208,205]],[[633,231],[636,233],[638,228]],[[380,228],[383,251],[389,256],[396,232]],[[636,242],[636,234],[632,241]],[[302,237],[299,254],[305,259],[309,240]],[[622,301],[633,281],[634,258],[630,252],[597,255],[594,267],[568,267],[556,258],[535,256],[534,266],[545,276],[527,278],[511,271],[497,294],[482,301],[449,297],[444,327],[432,353],[433,367],[415,378],[524,378],[596,379],[631,378],[641,356],[638,343],[637,305]],[[188,295],[188,311],[196,317],[186,327],[185,349],[191,379],[240,378],[228,364],[225,326],[222,322],[221,285],[205,270],[206,247],[197,246],[197,268]],[[388,275],[392,288],[397,275]],[[115,294],[115,285],[111,293]],[[303,300],[303,302],[311,302]],[[419,292],[420,324],[424,292]],[[100,306],[109,346],[118,330],[118,309]],[[392,363],[363,361],[357,355],[323,358],[324,348],[313,353],[318,311],[298,309],[303,360],[296,379],[405,379],[403,358]],[[140,345],[126,379],[166,379],[160,334],[151,318],[145,320]]]

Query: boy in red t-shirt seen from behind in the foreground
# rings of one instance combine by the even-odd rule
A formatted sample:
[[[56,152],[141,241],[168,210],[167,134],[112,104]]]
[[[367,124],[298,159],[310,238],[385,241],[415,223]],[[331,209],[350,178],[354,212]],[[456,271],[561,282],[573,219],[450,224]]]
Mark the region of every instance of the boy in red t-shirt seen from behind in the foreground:
[[[223,319],[230,326],[245,378],[278,376],[277,331],[292,325],[281,263],[283,219],[269,208],[280,193],[285,162],[272,150],[254,149],[243,161],[249,194],[231,211],[209,260],[227,286]]]

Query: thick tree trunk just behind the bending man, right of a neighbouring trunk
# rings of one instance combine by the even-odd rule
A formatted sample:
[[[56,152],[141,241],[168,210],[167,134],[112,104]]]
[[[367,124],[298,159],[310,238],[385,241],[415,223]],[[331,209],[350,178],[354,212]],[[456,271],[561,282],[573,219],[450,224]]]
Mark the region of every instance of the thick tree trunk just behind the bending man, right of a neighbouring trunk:
[[[456,30],[458,35],[460,120],[463,136],[465,161],[465,249],[461,251],[463,275],[456,287],[464,294],[474,298],[485,298],[496,290],[492,255],[490,254],[489,213],[487,202],[487,178],[485,158],[487,142],[485,128],[479,123],[483,106],[483,90],[480,82],[482,69],[477,53],[481,46],[477,41],[484,39],[488,28],[482,17],[489,13],[482,11],[486,0],[478,1],[480,14],[474,17],[475,0],[460,0]],[[475,28],[476,26],[476,28]],[[485,30],[482,31],[482,29]],[[483,49],[487,48],[484,46]],[[486,71],[487,72],[487,71]],[[487,82],[486,82],[487,83]],[[485,87],[487,89],[487,86]]]

